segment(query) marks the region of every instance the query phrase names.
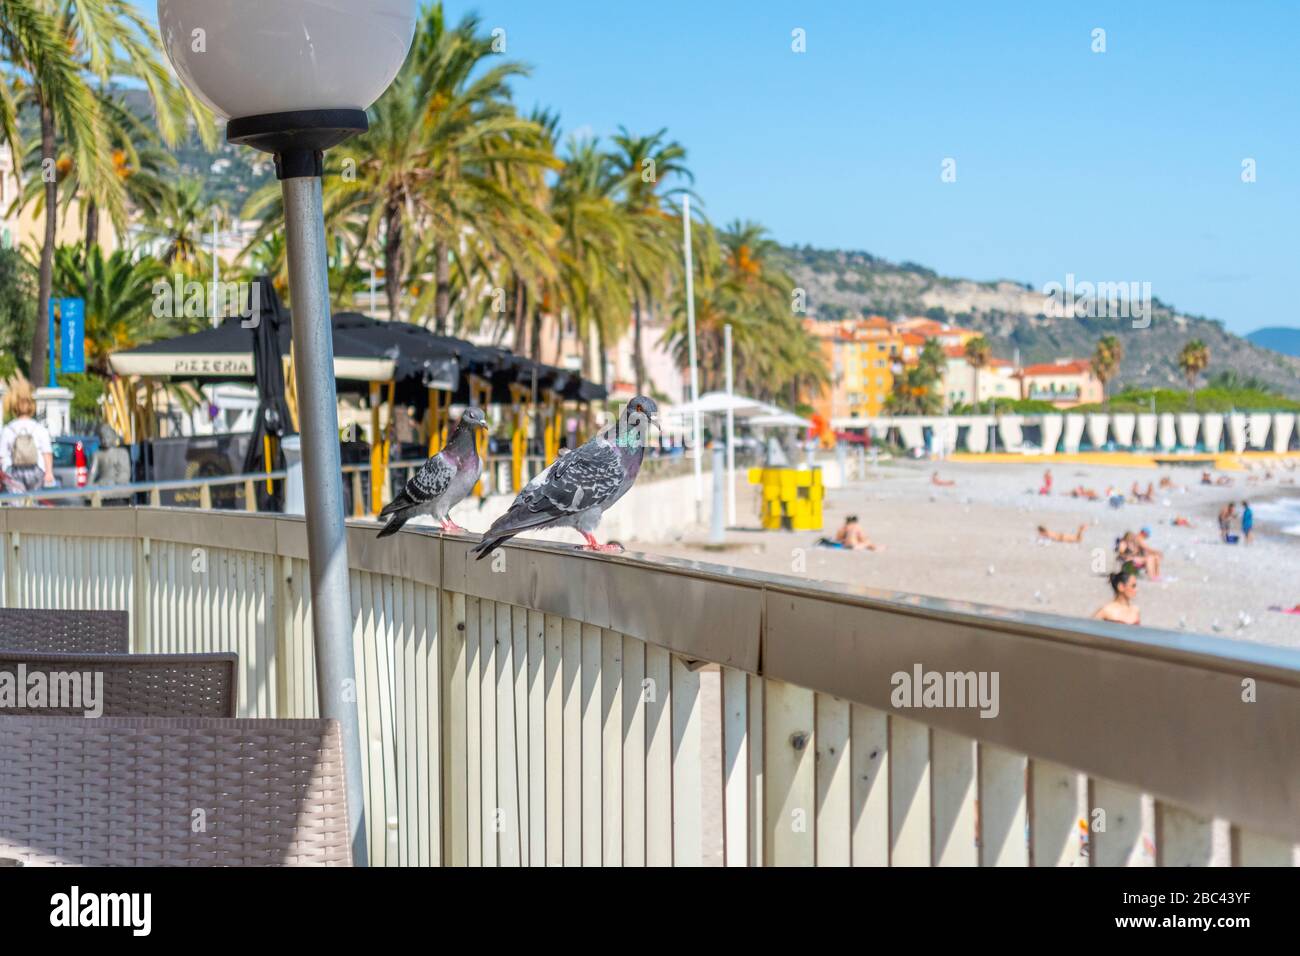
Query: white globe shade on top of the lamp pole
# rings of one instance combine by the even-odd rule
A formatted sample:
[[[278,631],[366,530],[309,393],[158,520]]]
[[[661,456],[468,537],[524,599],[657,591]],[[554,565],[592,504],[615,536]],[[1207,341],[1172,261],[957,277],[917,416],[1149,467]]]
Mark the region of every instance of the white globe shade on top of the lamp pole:
[[[364,111],[402,69],[417,0],[159,0],[177,75],[225,118]]]

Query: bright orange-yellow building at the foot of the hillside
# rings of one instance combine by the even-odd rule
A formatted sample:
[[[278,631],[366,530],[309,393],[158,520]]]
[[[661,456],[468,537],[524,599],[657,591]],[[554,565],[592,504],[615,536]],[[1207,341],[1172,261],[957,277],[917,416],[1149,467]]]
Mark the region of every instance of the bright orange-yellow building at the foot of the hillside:
[[[831,382],[812,399],[826,420],[871,418],[884,411],[894,371],[902,369],[904,341],[881,316],[845,321],[805,321],[826,356]]]

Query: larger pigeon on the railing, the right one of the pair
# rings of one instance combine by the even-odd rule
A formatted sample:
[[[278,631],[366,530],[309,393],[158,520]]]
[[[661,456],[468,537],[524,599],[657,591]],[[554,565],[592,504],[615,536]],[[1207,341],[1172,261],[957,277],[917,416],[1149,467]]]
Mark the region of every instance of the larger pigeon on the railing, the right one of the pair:
[[[645,455],[646,433],[659,411],[653,398],[637,395],[607,428],[582,447],[560,455],[519,493],[474,548],[482,561],[523,531],[576,528],[589,551],[621,551],[597,544],[592,532],[601,516],[632,488]]]

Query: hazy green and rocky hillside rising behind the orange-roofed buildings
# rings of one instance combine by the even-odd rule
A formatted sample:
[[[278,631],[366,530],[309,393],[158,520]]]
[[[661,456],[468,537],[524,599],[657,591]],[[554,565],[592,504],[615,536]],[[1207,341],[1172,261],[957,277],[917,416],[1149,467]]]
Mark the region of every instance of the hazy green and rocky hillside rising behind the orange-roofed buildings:
[[[1019,282],[948,278],[915,263],[889,263],[867,252],[809,246],[784,251],[786,268],[806,290],[809,313],[816,319],[926,315],[982,332],[998,358],[1014,359],[1019,350],[1023,363],[1087,356],[1101,336],[1113,333],[1124,347],[1119,388],[1184,388],[1178,351],[1199,338],[1210,350],[1208,375],[1232,371],[1300,398],[1300,358],[1260,347],[1217,320],[1176,312],[1158,299],[1152,303],[1150,326],[1135,329],[1127,319],[1049,317],[1041,290]]]

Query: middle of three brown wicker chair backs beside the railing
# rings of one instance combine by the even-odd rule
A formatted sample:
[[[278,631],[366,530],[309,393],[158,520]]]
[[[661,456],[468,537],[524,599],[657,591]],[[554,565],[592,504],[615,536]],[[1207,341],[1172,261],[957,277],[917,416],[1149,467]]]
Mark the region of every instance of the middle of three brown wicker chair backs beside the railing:
[[[18,669],[23,679],[18,680]],[[103,675],[96,717],[234,717],[238,696],[238,654],[31,654],[0,650],[0,717],[86,717],[84,678]],[[13,678],[5,680],[3,675]],[[46,675],[48,688],[39,705],[17,700],[22,684],[29,697],[32,675]],[[58,675],[70,675],[68,680]],[[12,683],[10,683],[12,682]],[[96,680],[98,683],[98,680]],[[6,691],[6,684],[10,689]],[[62,688],[62,706],[51,706]],[[12,695],[12,698],[6,696]],[[69,700],[68,695],[74,695]]]

